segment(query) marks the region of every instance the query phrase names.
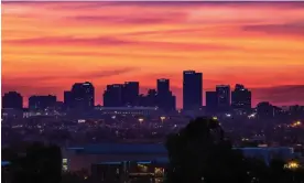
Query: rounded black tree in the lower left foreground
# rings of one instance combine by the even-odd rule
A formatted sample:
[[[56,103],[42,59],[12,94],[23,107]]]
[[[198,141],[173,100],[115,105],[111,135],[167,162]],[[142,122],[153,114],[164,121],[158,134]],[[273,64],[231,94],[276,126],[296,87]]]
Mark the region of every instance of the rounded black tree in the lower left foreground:
[[[59,183],[62,154],[56,146],[33,143],[11,160],[12,183]]]

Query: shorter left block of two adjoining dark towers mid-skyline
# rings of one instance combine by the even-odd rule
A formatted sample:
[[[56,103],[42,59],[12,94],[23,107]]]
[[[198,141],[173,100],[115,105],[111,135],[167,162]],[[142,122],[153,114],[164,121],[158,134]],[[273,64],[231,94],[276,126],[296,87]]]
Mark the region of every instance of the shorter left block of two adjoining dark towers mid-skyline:
[[[104,106],[105,107],[122,107],[122,90],[123,85],[113,84],[107,85],[107,89],[104,93]]]

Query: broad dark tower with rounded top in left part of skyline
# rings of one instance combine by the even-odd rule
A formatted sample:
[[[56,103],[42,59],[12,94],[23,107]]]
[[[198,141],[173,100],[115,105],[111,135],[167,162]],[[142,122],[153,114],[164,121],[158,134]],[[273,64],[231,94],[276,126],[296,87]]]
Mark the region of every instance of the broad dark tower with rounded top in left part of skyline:
[[[91,83],[75,83],[72,86],[70,97],[73,100],[73,108],[90,109],[95,106],[95,88]],[[68,95],[68,93],[67,93]]]

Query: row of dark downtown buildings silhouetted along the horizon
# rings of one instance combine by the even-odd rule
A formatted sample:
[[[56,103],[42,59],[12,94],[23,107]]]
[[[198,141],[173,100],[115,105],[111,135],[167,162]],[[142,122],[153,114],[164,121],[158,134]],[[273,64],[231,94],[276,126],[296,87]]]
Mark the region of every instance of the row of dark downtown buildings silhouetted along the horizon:
[[[31,95],[29,98],[24,98],[21,93],[11,90],[2,95],[3,101],[6,100],[6,106],[2,107],[14,106],[9,108],[20,108],[20,99],[22,100],[21,103],[23,103],[23,107],[29,107],[31,109],[47,108],[51,106],[54,107],[56,106],[57,101],[64,105],[65,108],[74,109],[91,109],[94,106],[99,105],[104,107],[158,106],[160,109],[164,109],[166,111],[175,109],[197,110],[200,107],[206,107],[208,111],[228,111],[231,108],[248,110],[252,107],[257,107],[254,105],[252,106],[252,93],[250,89],[246,88],[245,85],[236,84],[235,87],[231,87],[230,85],[216,85],[213,92],[202,92],[202,86],[204,85],[204,80],[202,79],[203,73],[198,73],[196,71],[183,72],[183,89],[186,90],[185,95],[183,95],[183,100],[187,100],[187,104],[182,108],[176,106],[176,96],[174,96],[174,94],[171,92],[169,78],[156,79],[156,87],[149,88],[144,94],[139,92],[140,83],[135,80],[123,82],[123,84],[108,84],[107,88],[101,95],[101,99],[104,101],[107,99],[105,101],[106,104],[96,104],[96,89],[94,84],[88,80],[83,83],[74,83],[70,86],[70,90],[64,90],[63,100],[57,100],[56,95],[50,94]],[[200,101],[197,101],[198,98]],[[29,106],[24,106],[26,99],[29,101]],[[203,100],[206,101],[206,105],[203,105]],[[14,103],[12,104],[11,101]],[[258,105],[262,103],[269,101],[261,101]]]

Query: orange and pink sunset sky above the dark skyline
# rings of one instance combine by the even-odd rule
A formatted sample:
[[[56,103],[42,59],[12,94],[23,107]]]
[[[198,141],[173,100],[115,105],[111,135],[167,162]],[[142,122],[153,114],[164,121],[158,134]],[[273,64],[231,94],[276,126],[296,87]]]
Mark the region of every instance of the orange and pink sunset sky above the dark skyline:
[[[63,100],[89,80],[102,104],[107,84],[165,77],[181,107],[184,69],[304,105],[304,2],[2,2],[2,93]]]

